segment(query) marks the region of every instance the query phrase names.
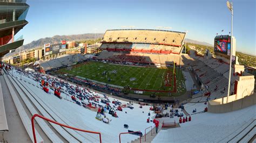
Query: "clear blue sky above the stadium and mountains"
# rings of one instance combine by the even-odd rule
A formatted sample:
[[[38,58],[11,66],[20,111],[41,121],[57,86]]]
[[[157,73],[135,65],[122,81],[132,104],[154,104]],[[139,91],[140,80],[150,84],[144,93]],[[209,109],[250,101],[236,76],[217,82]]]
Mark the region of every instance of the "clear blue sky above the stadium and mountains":
[[[188,31],[187,38],[213,44],[216,33],[228,34],[230,11],[225,0],[27,0],[30,9],[24,44],[53,35],[104,33],[121,26]],[[233,35],[237,51],[256,55],[255,1],[234,0]],[[224,30],[224,32],[221,32]]]

